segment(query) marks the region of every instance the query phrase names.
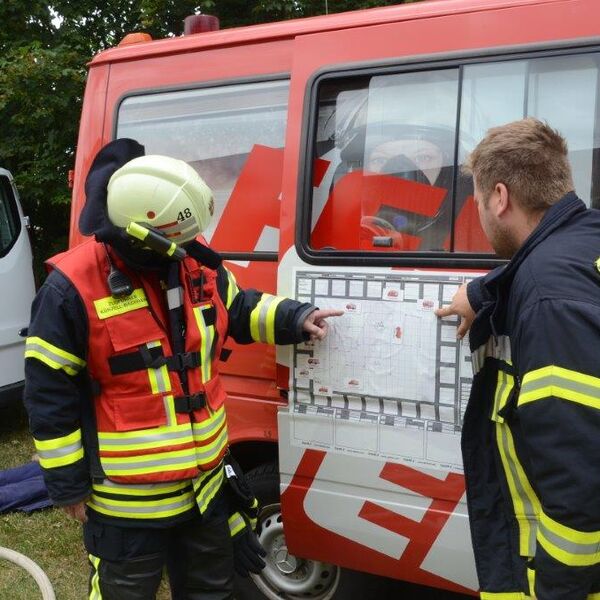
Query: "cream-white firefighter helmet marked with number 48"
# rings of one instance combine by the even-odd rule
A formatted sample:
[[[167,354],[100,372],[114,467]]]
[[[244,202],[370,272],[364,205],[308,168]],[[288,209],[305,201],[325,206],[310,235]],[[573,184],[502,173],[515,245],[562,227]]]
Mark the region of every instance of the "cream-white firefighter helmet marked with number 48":
[[[204,231],[214,212],[212,191],[200,175],[183,160],[157,155],[115,171],[106,204],[113,225],[147,223],[178,245]]]

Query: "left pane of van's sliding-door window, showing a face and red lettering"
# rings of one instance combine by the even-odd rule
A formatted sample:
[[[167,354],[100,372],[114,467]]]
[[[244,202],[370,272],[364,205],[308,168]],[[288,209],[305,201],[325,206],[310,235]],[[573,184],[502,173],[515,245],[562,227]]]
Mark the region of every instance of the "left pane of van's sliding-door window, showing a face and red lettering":
[[[313,248],[449,249],[458,75],[443,69],[321,85]]]

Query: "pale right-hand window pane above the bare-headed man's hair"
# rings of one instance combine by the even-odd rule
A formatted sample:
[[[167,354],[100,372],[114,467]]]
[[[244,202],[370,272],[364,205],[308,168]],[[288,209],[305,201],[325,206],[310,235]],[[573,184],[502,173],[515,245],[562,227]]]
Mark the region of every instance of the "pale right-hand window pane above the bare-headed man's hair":
[[[490,127],[527,116],[547,121],[567,140],[575,190],[588,206],[599,205],[597,55],[466,66],[462,98],[460,139],[467,150]]]

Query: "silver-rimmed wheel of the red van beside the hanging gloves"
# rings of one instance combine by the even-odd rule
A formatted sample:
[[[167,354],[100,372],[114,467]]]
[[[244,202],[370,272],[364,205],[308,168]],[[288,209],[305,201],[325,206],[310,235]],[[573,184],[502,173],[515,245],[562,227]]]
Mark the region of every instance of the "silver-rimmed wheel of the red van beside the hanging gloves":
[[[382,578],[289,554],[279,502],[279,469],[261,465],[246,474],[261,506],[257,534],[267,552],[260,575],[236,576],[237,600],[364,600],[376,598]]]

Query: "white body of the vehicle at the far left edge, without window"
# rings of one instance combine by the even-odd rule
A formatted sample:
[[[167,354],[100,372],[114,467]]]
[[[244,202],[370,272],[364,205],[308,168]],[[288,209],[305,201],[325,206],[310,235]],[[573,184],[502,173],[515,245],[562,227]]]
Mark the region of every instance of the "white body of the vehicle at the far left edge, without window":
[[[0,257],[1,404],[3,397],[9,392],[14,392],[24,379],[25,339],[19,335],[19,332],[29,324],[35,283],[27,222],[19,202],[19,195],[9,171],[0,168],[0,178],[6,178],[10,184],[10,188],[7,189],[12,191],[16,204],[15,216],[18,214],[20,223],[20,230],[14,244],[6,255]]]

